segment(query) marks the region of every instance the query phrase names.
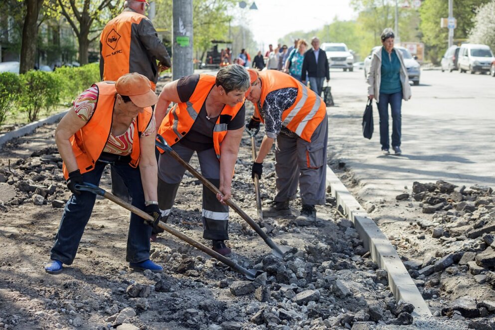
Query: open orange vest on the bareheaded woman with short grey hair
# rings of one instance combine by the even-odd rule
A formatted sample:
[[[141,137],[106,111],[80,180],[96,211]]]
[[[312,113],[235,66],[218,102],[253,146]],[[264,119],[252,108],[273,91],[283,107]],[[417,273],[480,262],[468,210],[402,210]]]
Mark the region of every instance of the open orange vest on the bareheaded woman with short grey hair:
[[[199,81],[189,100],[184,103],[177,103],[165,115],[158,133],[164,137],[169,146],[173,146],[189,132],[214,85],[214,76],[200,74]],[[225,105],[218,116],[215,127],[213,128],[213,146],[218,159],[220,159],[220,146],[227,134],[227,126],[243,105],[244,102],[238,103],[234,107]],[[163,153],[163,150],[159,150]]]

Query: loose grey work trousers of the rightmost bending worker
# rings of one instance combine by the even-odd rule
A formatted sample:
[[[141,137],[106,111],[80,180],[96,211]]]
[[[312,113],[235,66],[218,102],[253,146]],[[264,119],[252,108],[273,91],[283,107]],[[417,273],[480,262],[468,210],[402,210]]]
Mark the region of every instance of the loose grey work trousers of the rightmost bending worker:
[[[295,199],[299,185],[303,204],[325,204],[328,135],[326,115],[311,136],[311,142],[299,136],[289,137],[284,134],[277,136],[275,201],[285,202]]]

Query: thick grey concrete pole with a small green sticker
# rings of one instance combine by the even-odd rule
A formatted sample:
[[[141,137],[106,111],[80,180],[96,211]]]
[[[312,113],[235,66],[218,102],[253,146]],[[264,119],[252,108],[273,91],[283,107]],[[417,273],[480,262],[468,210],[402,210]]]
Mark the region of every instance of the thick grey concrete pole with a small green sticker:
[[[192,0],[172,0],[172,80],[191,75]]]

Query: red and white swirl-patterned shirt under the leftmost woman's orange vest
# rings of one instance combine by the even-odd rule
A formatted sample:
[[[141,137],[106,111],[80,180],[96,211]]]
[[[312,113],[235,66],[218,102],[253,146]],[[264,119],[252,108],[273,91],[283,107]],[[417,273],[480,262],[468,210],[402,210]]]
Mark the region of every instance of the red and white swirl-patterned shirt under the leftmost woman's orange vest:
[[[93,116],[96,109],[96,101],[98,100],[98,87],[96,85],[91,86],[89,89],[82,92],[79,97],[74,101],[74,112],[83,121],[88,122]],[[110,133],[107,144],[103,149],[104,153],[110,153],[121,156],[128,156],[132,153],[132,144],[134,141],[134,123],[136,118],[133,119],[131,126],[121,135],[114,136]],[[146,130],[141,134],[141,137],[146,137],[151,134],[155,134],[156,122],[155,116],[152,116],[150,124]]]

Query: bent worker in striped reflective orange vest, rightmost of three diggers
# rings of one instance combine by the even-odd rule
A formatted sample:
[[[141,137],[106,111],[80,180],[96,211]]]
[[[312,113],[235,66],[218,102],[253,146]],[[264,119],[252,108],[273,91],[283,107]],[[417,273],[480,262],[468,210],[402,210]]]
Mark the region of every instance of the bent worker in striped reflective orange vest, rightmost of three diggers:
[[[246,99],[255,112],[248,129],[265,124],[265,136],[252,166],[252,177],[263,173],[263,160],[275,147],[277,194],[267,216],[289,215],[289,200],[301,190],[302,210],[296,224],[316,221],[315,205],[324,205],[327,173],[328,116],[323,99],[298,80],[276,70],[248,70],[251,88]]]

